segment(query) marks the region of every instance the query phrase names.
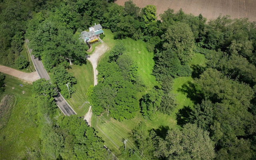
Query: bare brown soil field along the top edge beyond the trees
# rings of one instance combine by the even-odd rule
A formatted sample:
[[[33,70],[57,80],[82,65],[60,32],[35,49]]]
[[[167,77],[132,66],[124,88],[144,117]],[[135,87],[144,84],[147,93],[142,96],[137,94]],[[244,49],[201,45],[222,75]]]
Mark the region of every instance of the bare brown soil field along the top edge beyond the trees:
[[[124,5],[127,0],[116,0],[116,4]],[[159,14],[168,8],[177,12],[182,8],[186,14],[198,16],[200,13],[207,20],[216,19],[219,15],[229,15],[231,18],[248,18],[256,21],[256,0],[133,0],[136,6],[144,8],[155,5],[158,19]]]

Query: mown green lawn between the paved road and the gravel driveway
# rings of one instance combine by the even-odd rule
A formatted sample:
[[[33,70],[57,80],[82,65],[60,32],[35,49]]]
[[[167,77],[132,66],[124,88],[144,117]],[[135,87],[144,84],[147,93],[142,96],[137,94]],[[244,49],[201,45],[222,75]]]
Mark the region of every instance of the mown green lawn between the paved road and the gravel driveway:
[[[86,103],[88,101],[86,93],[90,85],[94,84],[92,65],[89,61],[86,65],[73,65],[68,72],[76,77],[77,84],[73,86],[76,92],[72,94],[70,99],[66,100],[78,115],[84,116],[90,107]]]

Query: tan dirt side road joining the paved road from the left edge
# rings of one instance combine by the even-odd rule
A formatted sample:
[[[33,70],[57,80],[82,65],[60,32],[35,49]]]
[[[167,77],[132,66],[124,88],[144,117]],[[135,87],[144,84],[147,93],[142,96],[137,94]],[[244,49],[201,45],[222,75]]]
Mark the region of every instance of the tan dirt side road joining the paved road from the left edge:
[[[0,65],[0,72],[6,73],[8,75],[12,75],[14,77],[18,77],[18,78],[23,79],[25,81],[28,81],[30,83],[40,79],[37,72],[24,73],[22,71],[18,71],[16,69],[6,67],[6,66],[3,66],[3,65]]]

